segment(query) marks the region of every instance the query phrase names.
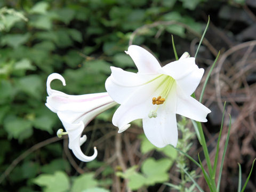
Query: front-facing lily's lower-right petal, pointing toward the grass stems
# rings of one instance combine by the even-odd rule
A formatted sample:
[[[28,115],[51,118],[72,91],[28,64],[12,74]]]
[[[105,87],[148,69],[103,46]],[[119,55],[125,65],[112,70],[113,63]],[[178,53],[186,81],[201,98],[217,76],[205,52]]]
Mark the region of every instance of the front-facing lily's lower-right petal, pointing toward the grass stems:
[[[211,113],[210,109],[196,99],[182,94],[180,90],[177,93],[177,114],[194,119],[195,121],[207,122],[206,116]]]

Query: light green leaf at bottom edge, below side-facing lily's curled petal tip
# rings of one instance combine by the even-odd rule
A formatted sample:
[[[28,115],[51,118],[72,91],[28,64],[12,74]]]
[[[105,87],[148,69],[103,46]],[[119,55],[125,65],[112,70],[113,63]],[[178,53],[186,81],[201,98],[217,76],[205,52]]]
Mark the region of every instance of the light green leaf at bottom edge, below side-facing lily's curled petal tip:
[[[98,181],[95,180],[93,177],[94,177],[94,173],[84,173],[82,175],[79,175],[74,180],[71,191],[72,192],[80,192],[85,189],[96,187],[98,184]]]

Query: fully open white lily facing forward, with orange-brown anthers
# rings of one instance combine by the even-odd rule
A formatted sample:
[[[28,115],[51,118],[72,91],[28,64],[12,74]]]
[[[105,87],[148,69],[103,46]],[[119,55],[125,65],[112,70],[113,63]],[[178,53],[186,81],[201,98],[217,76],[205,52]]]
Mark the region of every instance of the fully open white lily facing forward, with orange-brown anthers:
[[[137,45],[129,46],[127,54],[138,68],[138,73],[111,67],[106,81],[110,97],[121,104],[113,116],[113,124],[125,131],[130,122],[142,118],[143,130],[156,147],[177,145],[176,115],[206,122],[210,109],[190,97],[204,73],[195,58],[185,53],[178,61],[161,67],[157,59]]]

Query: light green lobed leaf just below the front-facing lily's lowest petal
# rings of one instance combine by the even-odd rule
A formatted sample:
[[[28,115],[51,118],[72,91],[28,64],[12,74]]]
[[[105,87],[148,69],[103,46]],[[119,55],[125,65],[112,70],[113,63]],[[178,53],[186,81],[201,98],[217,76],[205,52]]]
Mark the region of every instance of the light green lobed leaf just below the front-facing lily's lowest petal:
[[[170,169],[172,161],[167,158],[155,160],[148,158],[141,165],[141,171],[145,174],[146,184],[154,185],[155,183],[162,183],[169,180],[167,171]]]

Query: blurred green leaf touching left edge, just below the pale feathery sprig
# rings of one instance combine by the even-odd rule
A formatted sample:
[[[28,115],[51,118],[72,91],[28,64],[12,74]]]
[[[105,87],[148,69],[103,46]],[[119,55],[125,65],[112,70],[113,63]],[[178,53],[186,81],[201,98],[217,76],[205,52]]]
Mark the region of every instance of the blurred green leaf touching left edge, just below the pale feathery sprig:
[[[26,43],[30,37],[29,33],[26,34],[9,34],[1,38],[1,45],[9,45],[14,49]]]

